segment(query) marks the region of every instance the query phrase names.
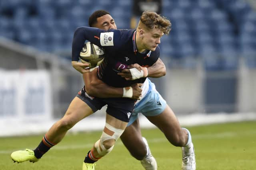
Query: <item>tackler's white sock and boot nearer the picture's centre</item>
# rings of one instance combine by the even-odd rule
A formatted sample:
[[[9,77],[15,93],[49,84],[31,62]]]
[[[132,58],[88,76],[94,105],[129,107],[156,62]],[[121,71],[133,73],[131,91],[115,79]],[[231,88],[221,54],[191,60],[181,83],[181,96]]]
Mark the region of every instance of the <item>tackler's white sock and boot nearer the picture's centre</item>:
[[[145,170],[157,170],[156,159],[154,158],[154,156],[152,156],[150,152],[148,142],[144,137],[142,137],[142,140],[147,147],[148,154],[140,162],[142,166],[145,168]]]

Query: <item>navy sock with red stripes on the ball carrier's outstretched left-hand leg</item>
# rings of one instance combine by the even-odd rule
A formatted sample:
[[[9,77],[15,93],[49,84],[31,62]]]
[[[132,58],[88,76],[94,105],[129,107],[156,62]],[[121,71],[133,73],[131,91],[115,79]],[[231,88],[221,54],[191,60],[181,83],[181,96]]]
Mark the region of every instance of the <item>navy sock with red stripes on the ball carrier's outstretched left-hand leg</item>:
[[[43,154],[45,154],[51,147],[53,147],[55,144],[51,143],[49,140],[47,140],[46,135],[44,135],[42,141],[38,145],[38,147],[34,150],[34,154],[36,158],[41,158]]]

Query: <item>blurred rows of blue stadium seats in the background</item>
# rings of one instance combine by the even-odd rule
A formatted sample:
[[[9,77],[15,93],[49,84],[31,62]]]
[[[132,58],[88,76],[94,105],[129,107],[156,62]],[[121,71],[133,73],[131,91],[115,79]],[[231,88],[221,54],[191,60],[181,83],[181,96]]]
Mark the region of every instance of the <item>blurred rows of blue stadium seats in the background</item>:
[[[189,68],[196,66],[193,60],[203,59],[210,70],[237,69],[238,56],[246,61],[255,58],[256,11],[246,1],[162,0],[162,4],[162,15],[172,22],[170,35],[161,41],[162,57],[180,60],[180,66]],[[109,11],[118,28],[130,28],[132,0],[3,0],[0,36],[70,54],[74,30],[88,26],[88,17],[99,9]],[[214,55],[219,57],[208,57]],[[256,68],[254,62],[247,63]]]

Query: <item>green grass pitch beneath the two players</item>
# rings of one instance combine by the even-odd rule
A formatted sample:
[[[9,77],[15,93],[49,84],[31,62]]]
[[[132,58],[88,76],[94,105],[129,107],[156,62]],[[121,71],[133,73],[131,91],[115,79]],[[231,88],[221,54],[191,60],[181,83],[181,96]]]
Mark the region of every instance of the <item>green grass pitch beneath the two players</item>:
[[[197,170],[255,170],[256,122],[240,122],[187,127],[192,133],[196,152]],[[34,164],[13,163],[14,150],[34,149],[42,135],[0,138],[1,170],[82,170],[87,151],[100,137],[101,132],[69,133],[64,140]],[[158,170],[179,170],[181,149],[168,143],[158,129],[142,129]],[[99,160],[96,170],[143,170],[140,162],[132,158],[118,140],[114,149]]]

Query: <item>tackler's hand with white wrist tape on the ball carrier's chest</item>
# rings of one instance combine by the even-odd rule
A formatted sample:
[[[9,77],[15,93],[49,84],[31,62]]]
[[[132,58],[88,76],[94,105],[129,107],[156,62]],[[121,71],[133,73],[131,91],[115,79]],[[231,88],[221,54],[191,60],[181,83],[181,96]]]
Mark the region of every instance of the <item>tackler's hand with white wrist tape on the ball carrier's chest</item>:
[[[136,80],[148,76],[148,69],[135,63],[130,64],[127,68],[123,69],[122,72],[119,72],[118,75],[126,80]]]

